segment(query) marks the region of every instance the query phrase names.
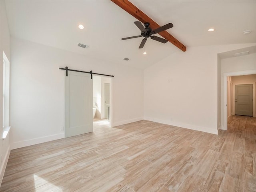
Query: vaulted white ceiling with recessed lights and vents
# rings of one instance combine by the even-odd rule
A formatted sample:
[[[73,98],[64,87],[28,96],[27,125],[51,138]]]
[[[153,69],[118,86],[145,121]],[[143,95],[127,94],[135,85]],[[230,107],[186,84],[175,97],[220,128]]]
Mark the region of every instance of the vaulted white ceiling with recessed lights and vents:
[[[171,22],[167,31],[187,46],[240,44],[256,42],[256,1],[131,0],[160,26]],[[138,49],[142,38],[136,19],[110,0],[86,1],[6,1],[13,37],[78,52],[120,65],[146,68],[174,52],[167,42],[148,40]],[[84,29],[78,29],[83,24]],[[214,32],[208,32],[214,28]],[[244,30],[251,30],[244,35]],[[78,47],[86,44],[88,49]],[[124,61],[123,58],[130,58]]]

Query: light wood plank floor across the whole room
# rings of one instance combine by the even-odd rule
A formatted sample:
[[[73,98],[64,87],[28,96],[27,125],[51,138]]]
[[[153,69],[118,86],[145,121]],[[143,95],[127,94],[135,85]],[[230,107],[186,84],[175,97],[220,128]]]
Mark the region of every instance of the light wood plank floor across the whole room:
[[[219,135],[146,120],[94,124],[12,150],[1,192],[256,191],[256,118],[232,116]]]

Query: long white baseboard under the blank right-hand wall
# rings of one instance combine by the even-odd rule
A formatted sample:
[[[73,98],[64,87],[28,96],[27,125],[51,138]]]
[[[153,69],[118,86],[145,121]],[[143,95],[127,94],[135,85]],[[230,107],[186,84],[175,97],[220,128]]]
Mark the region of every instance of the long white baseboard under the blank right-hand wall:
[[[218,134],[218,130],[210,129],[207,127],[201,127],[201,126],[195,126],[195,125],[190,125],[190,124],[184,124],[184,123],[179,123],[179,122],[172,122],[168,120],[162,120],[162,119],[156,119],[156,118],[150,118],[150,117],[144,117],[144,120],[148,121],[153,121],[153,122],[158,122],[162,124],[167,124],[167,125],[172,125],[172,126],[177,126],[181,128],[186,128],[186,129],[192,129],[196,131],[202,131],[206,133],[212,133],[212,134]]]

